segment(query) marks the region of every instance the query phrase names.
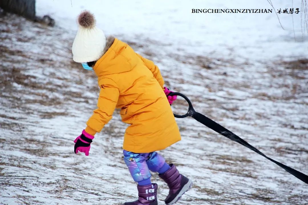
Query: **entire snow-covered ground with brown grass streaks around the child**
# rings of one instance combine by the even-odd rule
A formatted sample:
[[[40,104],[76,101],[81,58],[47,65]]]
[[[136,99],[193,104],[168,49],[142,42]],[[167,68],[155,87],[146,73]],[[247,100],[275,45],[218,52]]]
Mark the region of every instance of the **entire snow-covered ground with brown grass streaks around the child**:
[[[301,6],[272,2],[273,12]],[[73,152],[99,92],[94,73],[72,61],[75,18],[83,9],[107,35],[155,61],[166,85],[187,95],[197,112],[308,174],[308,34],[300,14],[278,14],[283,30],[274,13],[192,14],[193,8],[271,6],[37,0],[37,14],[55,18],[54,28],[13,14],[0,18],[0,204],[109,205],[136,197],[122,160],[126,125],[118,111],[96,135],[90,156]],[[187,107],[179,100],[172,109]],[[182,140],[160,153],[194,181],[178,204],[308,204],[308,186],[282,168],[194,119],[177,122]],[[156,174],[152,181],[162,205],[167,186]]]

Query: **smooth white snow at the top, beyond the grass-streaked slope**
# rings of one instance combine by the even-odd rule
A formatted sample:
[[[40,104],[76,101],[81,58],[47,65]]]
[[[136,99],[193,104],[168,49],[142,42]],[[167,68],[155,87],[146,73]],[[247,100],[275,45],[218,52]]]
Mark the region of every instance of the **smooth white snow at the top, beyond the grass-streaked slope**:
[[[299,8],[301,1],[272,1],[272,14],[192,14],[191,9],[272,9],[262,1],[99,1],[61,0],[37,1],[38,14],[51,14],[60,26],[76,30],[75,17],[80,10],[90,10],[96,15],[97,24],[107,34],[124,35],[128,39],[149,38],[172,43],[171,50],[183,49],[186,53],[229,56],[241,54],[249,59],[289,57],[308,52],[307,29],[301,26],[304,16],[278,14],[279,8]],[[297,43],[294,43],[294,31]],[[304,33],[302,33],[302,30]],[[163,40],[164,39],[164,40]],[[168,44],[167,43],[167,44]],[[168,49],[168,48],[166,48]],[[168,50],[169,50],[168,49]],[[236,51],[230,51],[236,49]]]

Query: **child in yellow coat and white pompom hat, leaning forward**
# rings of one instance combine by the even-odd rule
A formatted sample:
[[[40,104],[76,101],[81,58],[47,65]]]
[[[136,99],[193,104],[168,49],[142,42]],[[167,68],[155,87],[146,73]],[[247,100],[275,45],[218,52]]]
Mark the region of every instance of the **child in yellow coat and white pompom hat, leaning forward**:
[[[170,104],[176,96],[164,87],[160,70],[141,57],[126,43],[106,39],[95,26],[93,14],[83,11],[78,17],[79,28],[72,46],[73,60],[84,69],[94,70],[100,93],[87,127],[75,142],[75,153],[89,155],[90,144],[120,108],[122,121],[130,124],[124,134],[124,161],[135,182],[138,200],[125,205],[157,205],[157,184],[151,183],[150,171],[158,172],[169,187],[166,204],[173,204],[192,186],[174,164],[167,164],[156,151],[181,139]]]

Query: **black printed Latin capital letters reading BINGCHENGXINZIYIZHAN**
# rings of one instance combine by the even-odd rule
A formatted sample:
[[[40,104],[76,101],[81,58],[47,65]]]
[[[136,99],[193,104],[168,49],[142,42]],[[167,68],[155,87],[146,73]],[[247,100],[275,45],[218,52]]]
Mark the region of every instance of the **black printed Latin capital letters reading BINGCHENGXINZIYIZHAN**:
[[[273,13],[273,9],[192,9],[192,13]]]

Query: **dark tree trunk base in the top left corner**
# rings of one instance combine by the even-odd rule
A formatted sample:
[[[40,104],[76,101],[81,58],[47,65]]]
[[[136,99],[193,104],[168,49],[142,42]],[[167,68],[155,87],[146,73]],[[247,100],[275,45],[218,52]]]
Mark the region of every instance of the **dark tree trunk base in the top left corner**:
[[[31,20],[35,18],[35,0],[0,0],[0,7]]]

